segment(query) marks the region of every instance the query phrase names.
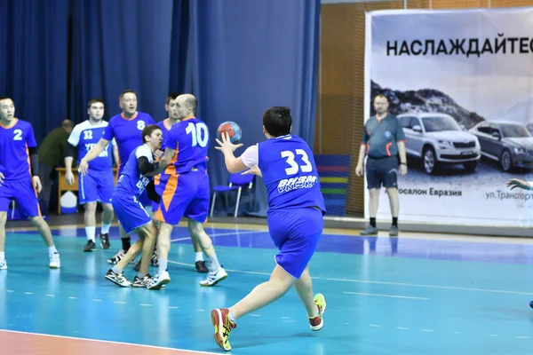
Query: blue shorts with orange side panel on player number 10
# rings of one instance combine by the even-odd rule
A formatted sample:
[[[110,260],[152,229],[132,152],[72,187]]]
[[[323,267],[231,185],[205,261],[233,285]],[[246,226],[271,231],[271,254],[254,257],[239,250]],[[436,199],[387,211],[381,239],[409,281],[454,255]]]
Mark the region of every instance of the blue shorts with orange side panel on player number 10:
[[[171,175],[165,182],[155,218],[169,225],[178,225],[181,217],[204,223],[209,211],[209,175],[202,171]]]

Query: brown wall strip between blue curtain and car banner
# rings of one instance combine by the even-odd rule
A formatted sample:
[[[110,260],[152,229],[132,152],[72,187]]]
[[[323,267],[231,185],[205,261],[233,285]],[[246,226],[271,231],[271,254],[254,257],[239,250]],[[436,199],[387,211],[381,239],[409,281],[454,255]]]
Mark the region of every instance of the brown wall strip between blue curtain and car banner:
[[[461,9],[531,6],[533,0],[408,0],[339,2],[321,6],[320,75],[315,154],[352,156],[346,216],[364,215],[364,180],[354,170],[364,112],[365,12],[402,9]]]

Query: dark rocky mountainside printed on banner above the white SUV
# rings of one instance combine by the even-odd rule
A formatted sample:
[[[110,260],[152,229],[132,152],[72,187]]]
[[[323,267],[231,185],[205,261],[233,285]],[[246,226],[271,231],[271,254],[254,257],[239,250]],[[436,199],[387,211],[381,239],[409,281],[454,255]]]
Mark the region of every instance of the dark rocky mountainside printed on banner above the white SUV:
[[[479,114],[457,105],[457,102],[442,91],[433,89],[394,91],[382,88],[378,83],[370,82],[371,99],[373,100],[378,94],[385,94],[389,99],[389,112],[394,115],[411,112],[449,114],[457,123],[464,125],[465,129],[470,129],[477,123],[485,121]],[[370,114],[376,114],[371,104],[370,107]]]

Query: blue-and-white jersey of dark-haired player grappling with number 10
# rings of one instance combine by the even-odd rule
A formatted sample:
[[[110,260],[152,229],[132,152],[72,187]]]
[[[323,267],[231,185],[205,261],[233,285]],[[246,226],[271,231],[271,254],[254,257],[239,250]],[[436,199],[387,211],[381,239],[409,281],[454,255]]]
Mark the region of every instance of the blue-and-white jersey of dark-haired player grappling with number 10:
[[[153,162],[153,154],[147,145],[138,146],[131,152],[126,162],[122,174],[116,182],[116,192],[124,195],[133,195],[139,199],[139,196],[145,191],[148,183],[154,177],[143,177],[139,170],[137,159],[139,156],[146,156],[148,162]]]

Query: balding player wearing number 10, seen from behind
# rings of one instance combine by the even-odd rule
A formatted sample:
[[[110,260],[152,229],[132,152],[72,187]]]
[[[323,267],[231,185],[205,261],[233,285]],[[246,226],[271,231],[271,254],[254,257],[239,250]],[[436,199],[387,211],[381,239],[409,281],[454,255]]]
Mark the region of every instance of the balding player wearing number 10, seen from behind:
[[[166,135],[163,158],[155,174],[161,173],[159,188],[163,189],[155,218],[161,222],[157,234],[159,272],[148,289],[159,289],[171,281],[167,272],[171,249],[171,232],[181,217],[188,218],[191,237],[200,243],[209,258],[209,272],[202,286],[213,286],[227,278],[227,272],[219,264],[211,238],[203,230],[207,220],[210,185],[207,175],[209,130],[195,117],[196,98],[190,94],[179,95],[175,100],[180,122],[172,125]]]

